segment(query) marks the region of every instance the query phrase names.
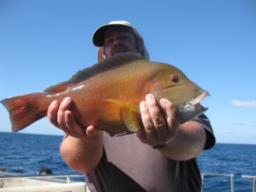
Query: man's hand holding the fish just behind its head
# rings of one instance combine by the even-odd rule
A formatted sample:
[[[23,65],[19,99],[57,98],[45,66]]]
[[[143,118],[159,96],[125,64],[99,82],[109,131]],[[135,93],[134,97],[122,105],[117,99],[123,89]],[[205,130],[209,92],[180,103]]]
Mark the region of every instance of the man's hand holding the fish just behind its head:
[[[137,131],[137,137],[143,143],[158,145],[174,139],[178,133],[179,118],[173,103],[163,98],[161,107],[166,111],[167,119],[163,118],[157,100],[152,94],[146,95],[146,101],[140,103],[144,129]]]

